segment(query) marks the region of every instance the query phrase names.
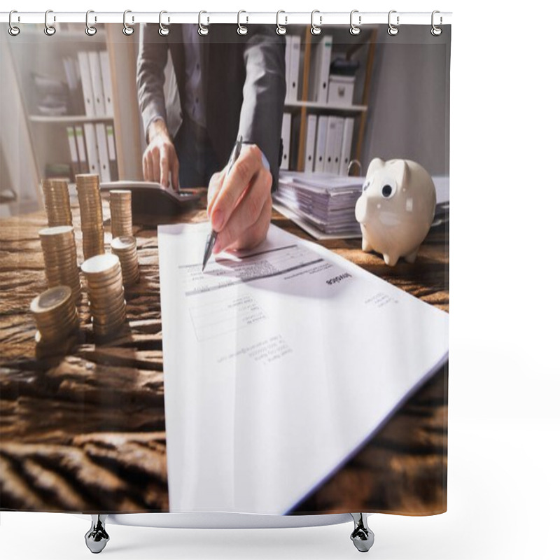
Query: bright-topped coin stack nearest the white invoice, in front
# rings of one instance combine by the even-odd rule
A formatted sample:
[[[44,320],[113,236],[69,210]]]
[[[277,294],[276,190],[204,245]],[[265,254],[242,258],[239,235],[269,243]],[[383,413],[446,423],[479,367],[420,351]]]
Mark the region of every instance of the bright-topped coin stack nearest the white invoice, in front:
[[[126,319],[125,288],[117,255],[105,253],[82,263],[87,280],[93,331],[105,337],[120,328]]]

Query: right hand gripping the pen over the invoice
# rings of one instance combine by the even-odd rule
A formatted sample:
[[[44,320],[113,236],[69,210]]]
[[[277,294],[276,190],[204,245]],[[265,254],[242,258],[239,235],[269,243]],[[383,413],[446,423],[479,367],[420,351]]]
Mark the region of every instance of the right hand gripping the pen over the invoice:
[[[218,234],[213,253],[257,246],[267,235],[272,216],[272,175],[255,144],[245,144],[226,177],[215,173],[208,187],[207,214]]]

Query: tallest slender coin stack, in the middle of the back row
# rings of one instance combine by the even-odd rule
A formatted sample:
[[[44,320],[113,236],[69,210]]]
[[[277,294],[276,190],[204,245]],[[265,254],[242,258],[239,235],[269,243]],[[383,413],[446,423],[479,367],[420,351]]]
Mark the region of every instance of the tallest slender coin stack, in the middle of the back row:
[[[105,252],[103,210],[99,191],[99,175],[76,175],[83,234],[83,257],[87,260]]]

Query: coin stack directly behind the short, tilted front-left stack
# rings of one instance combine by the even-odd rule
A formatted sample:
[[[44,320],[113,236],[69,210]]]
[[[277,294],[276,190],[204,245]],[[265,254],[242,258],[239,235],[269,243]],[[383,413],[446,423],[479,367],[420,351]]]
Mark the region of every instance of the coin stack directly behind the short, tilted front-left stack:
[[[45,274],[49,288],[69,286],[74,301],[80,300],[80,271],[76,255],[76,240],[71,225],[58,225],[39,231]]]

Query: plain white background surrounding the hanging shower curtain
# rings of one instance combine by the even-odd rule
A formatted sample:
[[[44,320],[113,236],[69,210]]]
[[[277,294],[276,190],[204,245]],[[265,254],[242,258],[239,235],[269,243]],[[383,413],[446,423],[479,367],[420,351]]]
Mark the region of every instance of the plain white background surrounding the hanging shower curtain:
[[[500,6],[507,9],[506,3]],[[76,9],[63,0],[56,7]],[[92,6],[130,7],[106,0]],[[37,0],[25,6],[46,8]],[[139,4],[134,8],[140,9]],[[241,8],[259,9],[254,1]],[[371,9],[335,1],[277,8],[309,13],[316,8]],[[385,8],[393,5],[375,9]],[[560,208],[555,131],[560,120],[559,91],[550,70],[556,40],[541,32],[541,25],[557,22],[559,8],[548,4],[545,11],[544,3],[525,3],[524,10],[499,11],[497,4],[488,8],[479,0],[468,8],[426,1],[398,4],[403,11],[436,8],[454,10],[448,512],[430,518],[373,516],[376,544],[370,554],[379,559],[552,559],[558,551],[554,529],[560,496],[554,449],[560,428],[560,300],[554,273]],[[146,3],[142,9],[158,8]],[[228,7],[215,1],[204,9]],[[520,40],[521,30],[526,40]],[[31,559],[36,542],[59,538],[64,540],[59,547],[43,547],[43,558],[75,559],[87,554],[83,525],[83,519],[72,516],[2,512],[0,552],[7,559]],[[216,534],[112,531],[111,557],[116,559],[340,559],[357,554],[345,542],[344,525]]]

